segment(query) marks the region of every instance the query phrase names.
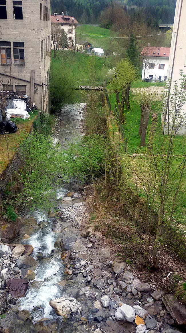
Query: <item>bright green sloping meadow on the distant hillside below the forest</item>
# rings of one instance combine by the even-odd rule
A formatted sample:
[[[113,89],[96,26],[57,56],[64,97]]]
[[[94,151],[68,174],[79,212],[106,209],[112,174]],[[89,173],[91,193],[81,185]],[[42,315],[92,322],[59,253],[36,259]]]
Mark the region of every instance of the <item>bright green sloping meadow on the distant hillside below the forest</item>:
[[[110,37],[110,30],[90,25],[82,25],[76,28],[77,42],[88,41],[93,47],[100,47],[104,49],[107,41],[110,39],[103,38],[101,36]]]

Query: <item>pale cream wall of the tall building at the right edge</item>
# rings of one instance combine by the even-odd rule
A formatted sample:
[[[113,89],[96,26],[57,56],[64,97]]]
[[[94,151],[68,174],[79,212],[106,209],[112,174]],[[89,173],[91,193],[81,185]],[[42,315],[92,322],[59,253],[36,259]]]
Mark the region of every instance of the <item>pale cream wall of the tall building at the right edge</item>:
[[[177,0],[174,24],[172,31],[172,40],[170,47],[170,57],[168,64],[168,74],[167,79],[171,78],[171,88],[170,93],[173,93],[174,81],[177,81],[179,84],[180,79],[180,70],[183,71],[183,74],[186,74],[186,1]],[[186,90],[186,85],[184,90]],[[183,106],[184,112],[186,112],[186,105]],[[168,120],[170,117],[168,111],[166,115],[162,116],[162,123],[165,123],[165,120]],[[163,132],[165,132],[165,126],[163,126]],[[178,134],[185,133],[185,127],[183,127]]]

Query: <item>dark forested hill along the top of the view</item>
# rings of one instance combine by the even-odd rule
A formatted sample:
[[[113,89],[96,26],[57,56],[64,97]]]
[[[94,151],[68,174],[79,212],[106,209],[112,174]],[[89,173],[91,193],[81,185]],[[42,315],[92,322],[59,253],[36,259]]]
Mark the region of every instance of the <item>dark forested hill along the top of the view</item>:
[[[155,26],[170,24],[174,21],[176,0],[120,0],[118,2],[125,11],[139,12]],[[68,11],[80,23],[85,24],[101,23],[104,9],[113,3],[113,0],[51,0],[52,12],[61,14]]]

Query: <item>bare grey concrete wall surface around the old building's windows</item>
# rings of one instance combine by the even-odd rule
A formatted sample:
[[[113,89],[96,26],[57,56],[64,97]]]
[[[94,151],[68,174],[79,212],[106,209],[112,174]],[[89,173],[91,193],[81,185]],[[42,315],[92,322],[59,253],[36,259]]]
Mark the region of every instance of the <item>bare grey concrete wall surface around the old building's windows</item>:
[[[15,85],[26,85],[26,94],[30,97],[30,74],[31,70],[35,70],[37,91],[34,93],[33,102],[39,109],[45,110],[48,105],[48,89],[45,91],[42,84],[45,83],[50,68],[50,42],[49,52],[42,61],[41,41],[50,36],[50,15],[48,15],[47,20],[41,20],[40,2],[42,6],[48,8],[50,14],[50,0],[22,1],[23,19],[15,20],[13,2],[6,0],[7,19],[0,19],[0,41],[11,42],[12,64],[0,64],[0,78],[2,84],[11,81],[9,83],[13,84],[14,89]],[[13,42],[24,42],[24,65],[14,64]],[[18,79],[10,78],[10,76]],[[24,80],[29,82],[24,82]],[[2,90],[2,84],[0,90]]]

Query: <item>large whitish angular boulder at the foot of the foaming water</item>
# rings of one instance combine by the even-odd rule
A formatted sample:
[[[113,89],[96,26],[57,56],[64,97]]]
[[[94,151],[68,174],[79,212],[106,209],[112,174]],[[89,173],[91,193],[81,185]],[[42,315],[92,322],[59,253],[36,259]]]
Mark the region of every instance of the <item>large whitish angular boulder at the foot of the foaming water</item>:
[[[65,316],[71,312],[80,313],[82,309],[81,304],[74,297],[55,298],[49,304],[59,316]]]

